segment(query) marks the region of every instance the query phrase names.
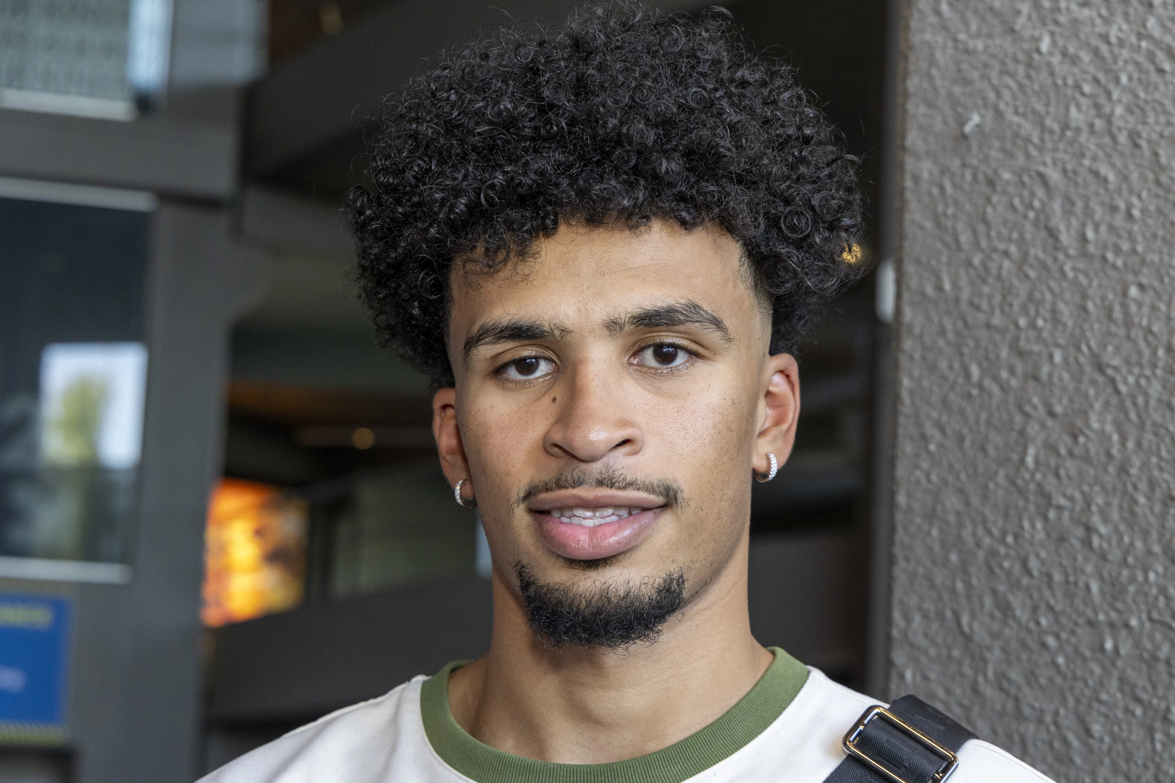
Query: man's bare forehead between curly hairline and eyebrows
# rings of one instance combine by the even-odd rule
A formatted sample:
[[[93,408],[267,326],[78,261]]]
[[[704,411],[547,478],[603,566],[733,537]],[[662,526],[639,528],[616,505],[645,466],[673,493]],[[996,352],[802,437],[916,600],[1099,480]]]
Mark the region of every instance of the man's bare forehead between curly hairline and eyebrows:
[[[766,319],[739,244],[718,228],[563,224],[524,262],[492,272],[454,266],[450,328],[458,344],[461,335],[504,316],[576,329],[665,302],[696,302],[732,333],[756,331]]]

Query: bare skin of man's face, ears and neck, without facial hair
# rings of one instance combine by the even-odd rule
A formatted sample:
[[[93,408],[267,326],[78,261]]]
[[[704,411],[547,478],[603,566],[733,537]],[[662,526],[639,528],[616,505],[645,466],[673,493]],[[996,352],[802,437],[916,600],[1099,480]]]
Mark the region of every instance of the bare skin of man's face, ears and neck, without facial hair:
[[[725,333],[697,319],[631,318],[683,303]],[[498,330],[466,356],[485,324],[511,322],[546,333]],[[463,495],[477,498],[494,556],[490,650],[450,680],[454,717],[474,737],[543,761],[632,758],[713,722],[770,666],[747,615],[751,480],[768,470],[768,452],[787,459],[799,413],[795,360],[770,355],[770,331],[740,248],[718,228],[564,224],[522,265],[454,264],[456,385],[437,392],[432,426],[450,485],[464,479]],[[516,502],[572,468],[672,482],[684,501],[564,490]],[[649,511],[616,534],[535,511],[596,501]],[[518,562],[577,592],[680,568],[689,603],[651,644],[544,647],[526,622]]]

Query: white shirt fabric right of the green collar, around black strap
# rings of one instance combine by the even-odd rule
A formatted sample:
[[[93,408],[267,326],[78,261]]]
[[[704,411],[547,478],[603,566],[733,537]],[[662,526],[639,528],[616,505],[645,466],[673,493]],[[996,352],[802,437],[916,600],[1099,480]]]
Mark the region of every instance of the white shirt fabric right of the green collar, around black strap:
[[[745,750],[758,756],[754,765],[786,763],[797,781],[824,781],[845,757],[841,748],[845,733],[861,713],[878,703],[885,702],[835,683],[820,670],[810,668],[807,682],[792,703]],[[772,761],[768,762],[768,758]],[[951,776],[951,783],[993,781],[1052,783],[1045,775],[991,743],[980,740],[966,743],[959,751],[959,768]]]

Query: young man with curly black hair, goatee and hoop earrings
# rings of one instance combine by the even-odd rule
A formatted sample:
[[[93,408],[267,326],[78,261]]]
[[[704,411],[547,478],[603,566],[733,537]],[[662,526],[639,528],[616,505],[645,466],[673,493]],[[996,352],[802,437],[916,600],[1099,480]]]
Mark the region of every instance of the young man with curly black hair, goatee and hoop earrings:
[[[751,481],[792,447],[801,329],[859,274],[854,177],[717,11],[502,33],[390,102],[360,279],[439,387],[492,643],[206,779],[1047,781],[914,701],[846,761],[875,702],[751,635]]]

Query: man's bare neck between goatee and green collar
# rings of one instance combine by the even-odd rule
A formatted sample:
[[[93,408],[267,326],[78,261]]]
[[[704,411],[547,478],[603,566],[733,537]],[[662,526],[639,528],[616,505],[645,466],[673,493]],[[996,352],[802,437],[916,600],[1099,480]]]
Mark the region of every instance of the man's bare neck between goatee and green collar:
[[[744,534],[657,642],[619,653],[543,647],[495,574],[490,652],[450,680],[454,718],[491,748],[571,764],[634,758],[709,725],[772,661],[751,635],[747,546]]]

